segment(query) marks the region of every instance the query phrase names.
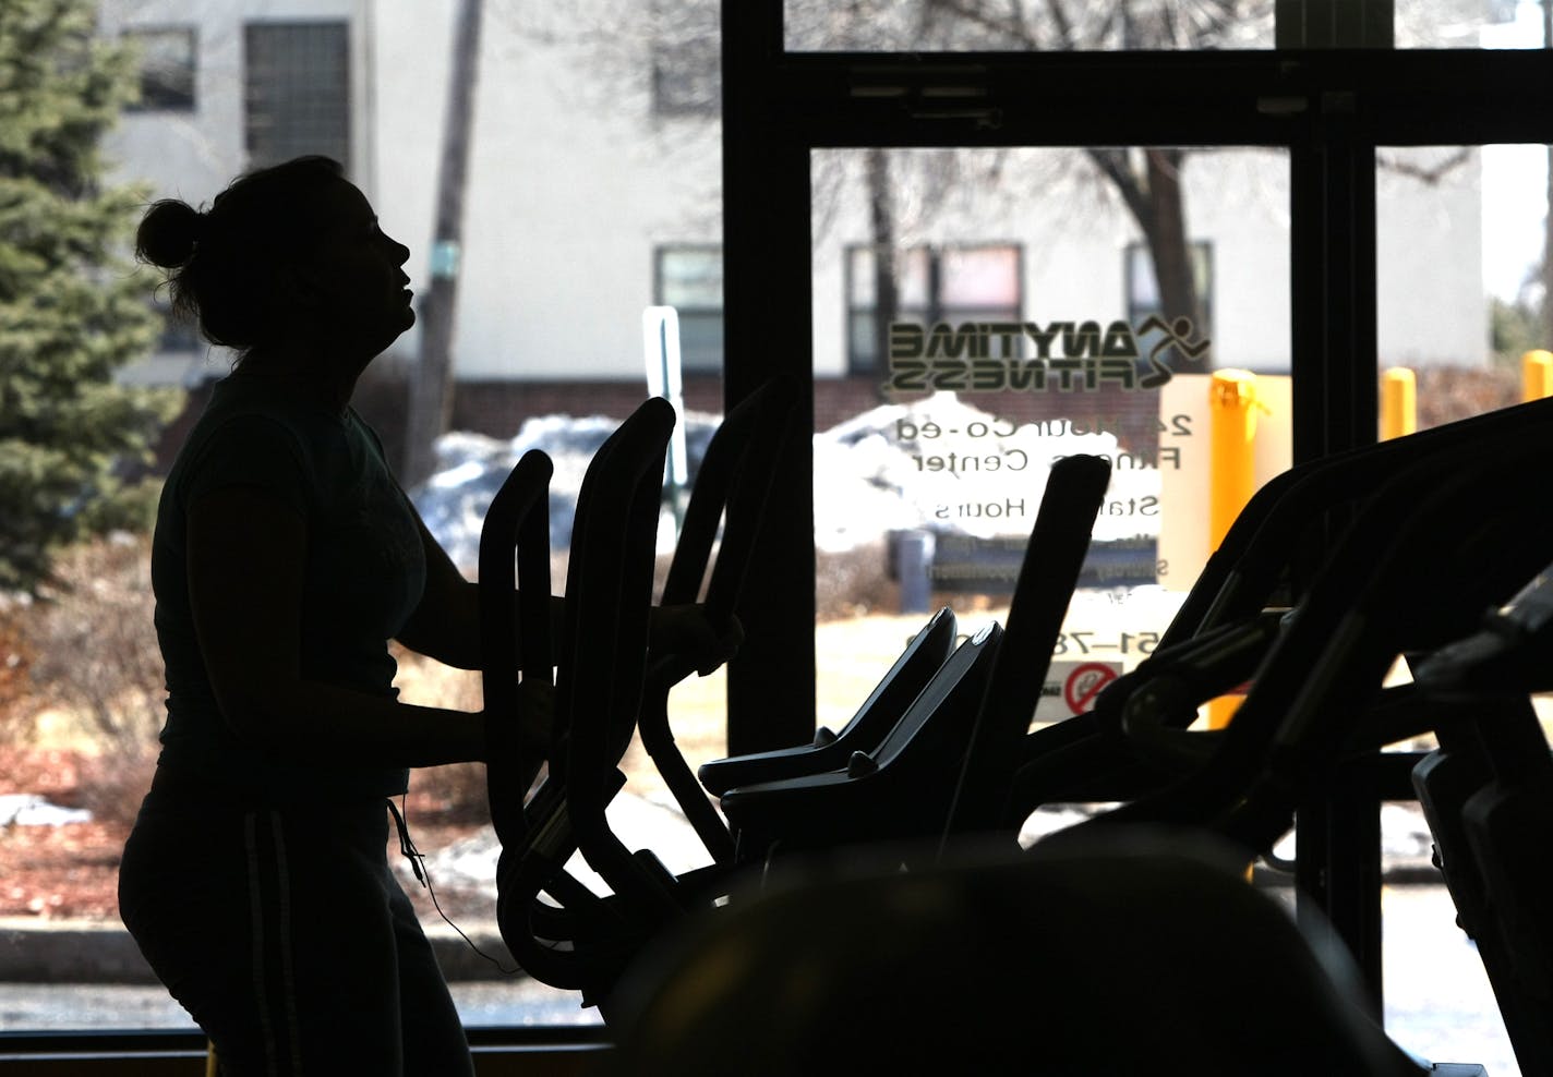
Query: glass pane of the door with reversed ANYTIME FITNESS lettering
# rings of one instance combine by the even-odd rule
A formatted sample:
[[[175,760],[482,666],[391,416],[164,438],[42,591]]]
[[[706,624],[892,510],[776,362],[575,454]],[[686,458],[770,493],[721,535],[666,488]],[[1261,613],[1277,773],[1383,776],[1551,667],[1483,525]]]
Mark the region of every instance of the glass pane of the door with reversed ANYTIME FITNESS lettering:
[[[1149,180],[1173,197],[1140,211]],[[1287,151],[836,149],[811,183],[820,722],[930,611],[1006,619],[1075,453],[1112,481],[1033,719],[1087,709],[1169,624],[1214,500],[1289,466]]]

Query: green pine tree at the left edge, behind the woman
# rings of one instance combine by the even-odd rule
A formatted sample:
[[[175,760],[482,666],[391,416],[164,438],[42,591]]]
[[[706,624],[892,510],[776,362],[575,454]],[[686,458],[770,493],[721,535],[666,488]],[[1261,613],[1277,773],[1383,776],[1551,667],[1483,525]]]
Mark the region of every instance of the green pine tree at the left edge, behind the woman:
[[[113,380],[158,329],[129,255],[146,192],[107,185],[101,151],[137,93],[92,0],[0,3],[0,590],[123,521],[120,476],[177,405]]]

